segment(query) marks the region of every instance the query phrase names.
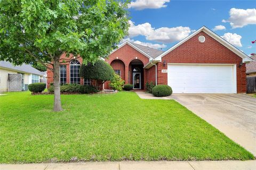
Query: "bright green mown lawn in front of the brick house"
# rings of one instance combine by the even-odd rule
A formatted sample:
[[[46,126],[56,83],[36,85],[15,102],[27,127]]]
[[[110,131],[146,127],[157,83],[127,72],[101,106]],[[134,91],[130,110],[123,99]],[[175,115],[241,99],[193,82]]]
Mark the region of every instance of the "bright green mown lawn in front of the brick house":
[[[0,163],[254,159],[174,100],[134,92],[0,96]]]

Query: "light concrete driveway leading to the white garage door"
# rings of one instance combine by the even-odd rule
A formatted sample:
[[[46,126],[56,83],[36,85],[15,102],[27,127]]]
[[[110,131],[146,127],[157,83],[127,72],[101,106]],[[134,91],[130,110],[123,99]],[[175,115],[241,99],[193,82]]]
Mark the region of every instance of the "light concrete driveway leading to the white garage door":
[[[256,156],[256,98],[239,94],[171,96]]]

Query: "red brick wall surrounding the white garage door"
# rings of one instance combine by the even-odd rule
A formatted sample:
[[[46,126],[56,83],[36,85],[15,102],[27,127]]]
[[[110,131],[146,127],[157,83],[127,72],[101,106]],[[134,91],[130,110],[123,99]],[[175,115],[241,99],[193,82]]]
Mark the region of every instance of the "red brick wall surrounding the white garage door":
[[[204,43],[198,41],[201,35],[206,38]],[[167,73],[161,72],[162,69],[167,69],[167,63],[236,64],[237,92],[246,92],[245,64],[238,67],[242,58],[203,31],[163,56],[162,62],[164,61],[165,66],[163,63],[157,64],[157,84],[167,84]]]

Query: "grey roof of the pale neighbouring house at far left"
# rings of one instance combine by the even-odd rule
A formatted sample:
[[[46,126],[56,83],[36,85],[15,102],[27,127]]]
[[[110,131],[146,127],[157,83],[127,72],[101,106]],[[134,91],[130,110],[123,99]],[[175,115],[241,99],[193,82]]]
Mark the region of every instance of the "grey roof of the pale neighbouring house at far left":
[[[29,64],[22,64],[22,65],[17,65],[14,66],[10,62],[6,61],[0,61],[0,67],[3,67],[5,69],[10,69],[10,70],[15,70],[17,72],[22,72],[22,73],[31,73],[31,74],[37,74],[37,75],[44,75],[44,72],[41,72],[37,69],[35,69],[33,66]]]

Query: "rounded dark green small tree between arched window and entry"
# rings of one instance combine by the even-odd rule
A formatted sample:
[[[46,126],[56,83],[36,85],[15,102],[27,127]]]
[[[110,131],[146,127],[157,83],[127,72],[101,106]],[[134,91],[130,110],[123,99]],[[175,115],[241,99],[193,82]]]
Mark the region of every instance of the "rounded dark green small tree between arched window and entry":
[[[104,83],[105,81],[113,80],[115,75],[113,68],[103,60],[81,65],[79,73],[84,79],[95,80],[94,87],[98,87],[98,80]]]

